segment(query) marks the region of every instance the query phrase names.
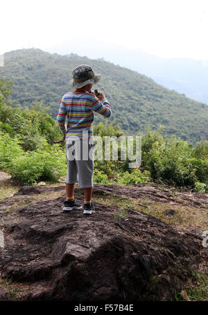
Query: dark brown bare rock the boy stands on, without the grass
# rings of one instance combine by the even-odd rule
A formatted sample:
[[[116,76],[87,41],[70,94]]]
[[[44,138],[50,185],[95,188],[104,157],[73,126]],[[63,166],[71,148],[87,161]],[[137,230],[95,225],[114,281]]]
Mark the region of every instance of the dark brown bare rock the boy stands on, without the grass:
[[[131,191],[137,198],[141,188],[148,191],[96,185],[94,194],[128,196]],[[23,187],[7,205],[8,199],[40,189],[58,187]],[[157,189],[158,194],[164,198],[169,192]],[[154,216],[128,209],[116,220],[119,207],[100,203],[94,214],[84,216],[82,210],[63,212],[63,201],[64,196],[31,203],[20,207],[15,219],[1,221],[1,277],[26,285],[19,300],[170,300],[202,259],[199,238]],[[3,202],[0,206],[2,213]]]

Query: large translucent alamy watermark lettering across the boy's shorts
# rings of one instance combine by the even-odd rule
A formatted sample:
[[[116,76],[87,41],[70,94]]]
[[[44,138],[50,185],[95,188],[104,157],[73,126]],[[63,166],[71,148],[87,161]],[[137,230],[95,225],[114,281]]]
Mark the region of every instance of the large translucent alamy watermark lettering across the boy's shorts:
[[[125,161],[129,168],[141,166],[141,136],[94,136],[83,132],[79,137],[66,138],[68,160]]]

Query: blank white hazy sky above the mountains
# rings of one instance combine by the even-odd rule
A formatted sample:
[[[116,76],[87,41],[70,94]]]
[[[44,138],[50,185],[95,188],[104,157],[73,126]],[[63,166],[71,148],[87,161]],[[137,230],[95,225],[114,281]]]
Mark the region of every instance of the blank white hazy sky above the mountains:
[[[163,58],[208,60],[207,0],[4,0],[0,12],[0,54],[76,37],[92,49],[97,39]]]

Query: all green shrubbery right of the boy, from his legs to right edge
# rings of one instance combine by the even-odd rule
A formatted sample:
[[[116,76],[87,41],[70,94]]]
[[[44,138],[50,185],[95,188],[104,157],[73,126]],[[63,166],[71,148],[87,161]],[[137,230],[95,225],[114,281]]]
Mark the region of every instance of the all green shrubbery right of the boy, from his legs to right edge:
[[[101,130],[100,133],[98,130]],[[108,130],[104,124],[100,123],[97,135],[103,135],[103,142],[104,130],[108,135],[113,135],[117,131]],[[186,186],[195,191],[207,192],[208,160],[205,150],[207,143],[203,142],[203,146],[198,144],[196,148],[191,148],[191,144],[177,139],[175,135],[170,139],[163,137],[162,126],[158,130],[151,130],[148,126],[141,140],[140,169],[128,169],[128,160],[96,161],[94,179],[97,183],[127,185],[148,182],[150,178],[153,178],[162,180],[167,185]],[[205,157],[205,160],[196,156]]]

